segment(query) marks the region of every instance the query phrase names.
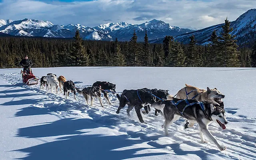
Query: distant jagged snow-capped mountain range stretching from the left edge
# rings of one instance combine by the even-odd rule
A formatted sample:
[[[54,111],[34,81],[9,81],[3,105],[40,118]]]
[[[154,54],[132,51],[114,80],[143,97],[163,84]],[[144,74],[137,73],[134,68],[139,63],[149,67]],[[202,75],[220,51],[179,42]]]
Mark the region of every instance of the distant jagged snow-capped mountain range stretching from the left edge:
[[[144,40],[145,30],[148,31],[149,40],[163,38],[166,35],[175,36],[192,32],[194,30],[170,26],[160,20],[152,20],[143,24],[128,24],[126,22],[106,23],[90,28],[81,24],[69,24],[66,26],[54,25],[42,20],[0,20],[0,32],[14,36],[42,36],[72,38],[76,32],[84,39],[89,40],[130,40],[133,31],[136,30],[138,41]]]

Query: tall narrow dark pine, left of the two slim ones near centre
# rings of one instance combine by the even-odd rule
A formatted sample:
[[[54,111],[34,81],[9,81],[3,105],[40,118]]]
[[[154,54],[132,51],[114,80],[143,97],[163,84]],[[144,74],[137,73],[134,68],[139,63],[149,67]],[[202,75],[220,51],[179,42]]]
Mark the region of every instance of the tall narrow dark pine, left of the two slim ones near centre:
[[[133,32],[133,36],[130,40],[130,59],[129,59],[129,62],[131,63],[130,65],[131,66],[138,66],[139,64],[139,60],[138,60],[138,57],[139,57],[139,54],[140,54],[140,49],[138,47],[138,44],[137,44],[137,39],[138,39],[138,36],[136,35],[136,32],[134,30]]]

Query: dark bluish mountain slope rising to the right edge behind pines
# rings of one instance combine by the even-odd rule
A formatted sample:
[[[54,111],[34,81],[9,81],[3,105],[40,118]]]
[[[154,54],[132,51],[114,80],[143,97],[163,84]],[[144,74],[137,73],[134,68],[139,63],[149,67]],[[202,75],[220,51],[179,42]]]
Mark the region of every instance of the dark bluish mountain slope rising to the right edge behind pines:
[[[224,23],[196,30],[187,34],[174,36],[174,39],[179,42],[183,42],[184,44],[188,44],[190,41],[189,37],[194,34],[198,44],[207,44],[213,30],[216,30],[216,33],[220,35],[223,25]],[[231,34],[236,36],[238,44],[242,45],[250,41],[254,42],[254,40],[256,40],[256,9],[248,10],[239,16],[235,21],[230,23],[230,27],[233,28]],[[163,38],[152,40],[150,42],[162,43],[162,41]]]

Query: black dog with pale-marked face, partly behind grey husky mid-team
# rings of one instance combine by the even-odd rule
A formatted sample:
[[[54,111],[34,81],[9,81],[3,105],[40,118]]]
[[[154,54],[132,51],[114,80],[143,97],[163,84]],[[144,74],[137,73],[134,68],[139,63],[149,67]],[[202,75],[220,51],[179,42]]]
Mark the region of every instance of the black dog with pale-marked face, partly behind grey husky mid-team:
[[[112,92],[112,94],[116,94],[116,84],[112,84],[110,82],[101,82],[101,81],[96,81],[94,84],[92,84],[92,86],[95,87],[100,87],[102,89],[102,93],[104,94],[104,98],[106,98],[106,100],[108,101],[109,104],[111,104],[109,98],[108,98],[108,94],[110,92]]]

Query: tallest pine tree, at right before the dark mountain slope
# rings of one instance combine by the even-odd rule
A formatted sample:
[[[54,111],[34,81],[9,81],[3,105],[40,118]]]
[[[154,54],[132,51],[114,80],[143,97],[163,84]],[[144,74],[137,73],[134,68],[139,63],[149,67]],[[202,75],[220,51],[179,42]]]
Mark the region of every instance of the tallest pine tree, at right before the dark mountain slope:
[[[225,20],[224,26],[222,26],[222,33],[220,39],[220,54],[221,63],[220,66],[224,67],[239,67],[239,52],[237,50],[238,45],[236,44],[237,40],[234,40],[235,36],[232,36],[230,32],[232,32],[233,28],[230,28],[230,21],[228,18]]]

